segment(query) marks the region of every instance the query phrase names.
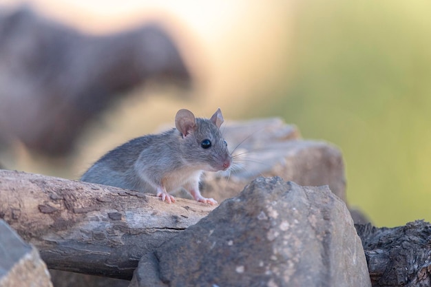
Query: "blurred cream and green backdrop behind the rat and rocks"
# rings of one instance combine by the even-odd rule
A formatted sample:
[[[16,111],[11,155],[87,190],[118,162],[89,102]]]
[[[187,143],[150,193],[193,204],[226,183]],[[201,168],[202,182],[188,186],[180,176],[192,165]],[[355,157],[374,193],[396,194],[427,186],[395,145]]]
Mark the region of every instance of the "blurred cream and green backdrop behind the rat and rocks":
[[[23,3],[0,0],[0,10]],[[1,153],[8,169],[76,179],[116,145],[173,125],[178,109],[211,116],[220,107],[227,120],[281,117],[304,138],[337,145],[348,202],[375,225],[431,220],[431,2],[25,3],[90,35],[156,21],[193,85],[130,90],[69,156],[53,160],[14,142]]]

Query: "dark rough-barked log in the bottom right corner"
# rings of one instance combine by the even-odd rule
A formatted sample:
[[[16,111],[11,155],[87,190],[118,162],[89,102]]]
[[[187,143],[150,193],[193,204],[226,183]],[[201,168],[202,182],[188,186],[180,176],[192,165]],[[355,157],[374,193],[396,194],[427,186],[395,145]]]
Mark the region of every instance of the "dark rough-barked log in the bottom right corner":
[[[364,246],[372,286],[430,286],[430,223],[417,220],[394,228],[371,224],[355,227]]]

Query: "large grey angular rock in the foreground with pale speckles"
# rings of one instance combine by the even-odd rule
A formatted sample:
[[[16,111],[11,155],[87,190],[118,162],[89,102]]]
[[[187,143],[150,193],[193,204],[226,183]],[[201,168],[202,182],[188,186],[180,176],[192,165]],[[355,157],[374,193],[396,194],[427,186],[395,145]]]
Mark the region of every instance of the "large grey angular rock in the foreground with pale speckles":
[[[371,286],[361,240],[328,187],[257,178],[141,259],[130,286]]]

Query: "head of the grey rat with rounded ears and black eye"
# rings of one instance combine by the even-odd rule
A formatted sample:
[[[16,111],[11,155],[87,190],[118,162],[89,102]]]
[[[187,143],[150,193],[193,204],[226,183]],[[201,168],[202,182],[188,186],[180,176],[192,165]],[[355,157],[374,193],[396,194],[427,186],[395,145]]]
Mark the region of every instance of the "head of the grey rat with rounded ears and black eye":
[[[189,164],[206,171],[225,171],[232,163],[227,142],[220,132],[222,111],[218,109],[210,119],[195,118],[187,109],[180,109],[175,125],[182,134],[180,150]]]

